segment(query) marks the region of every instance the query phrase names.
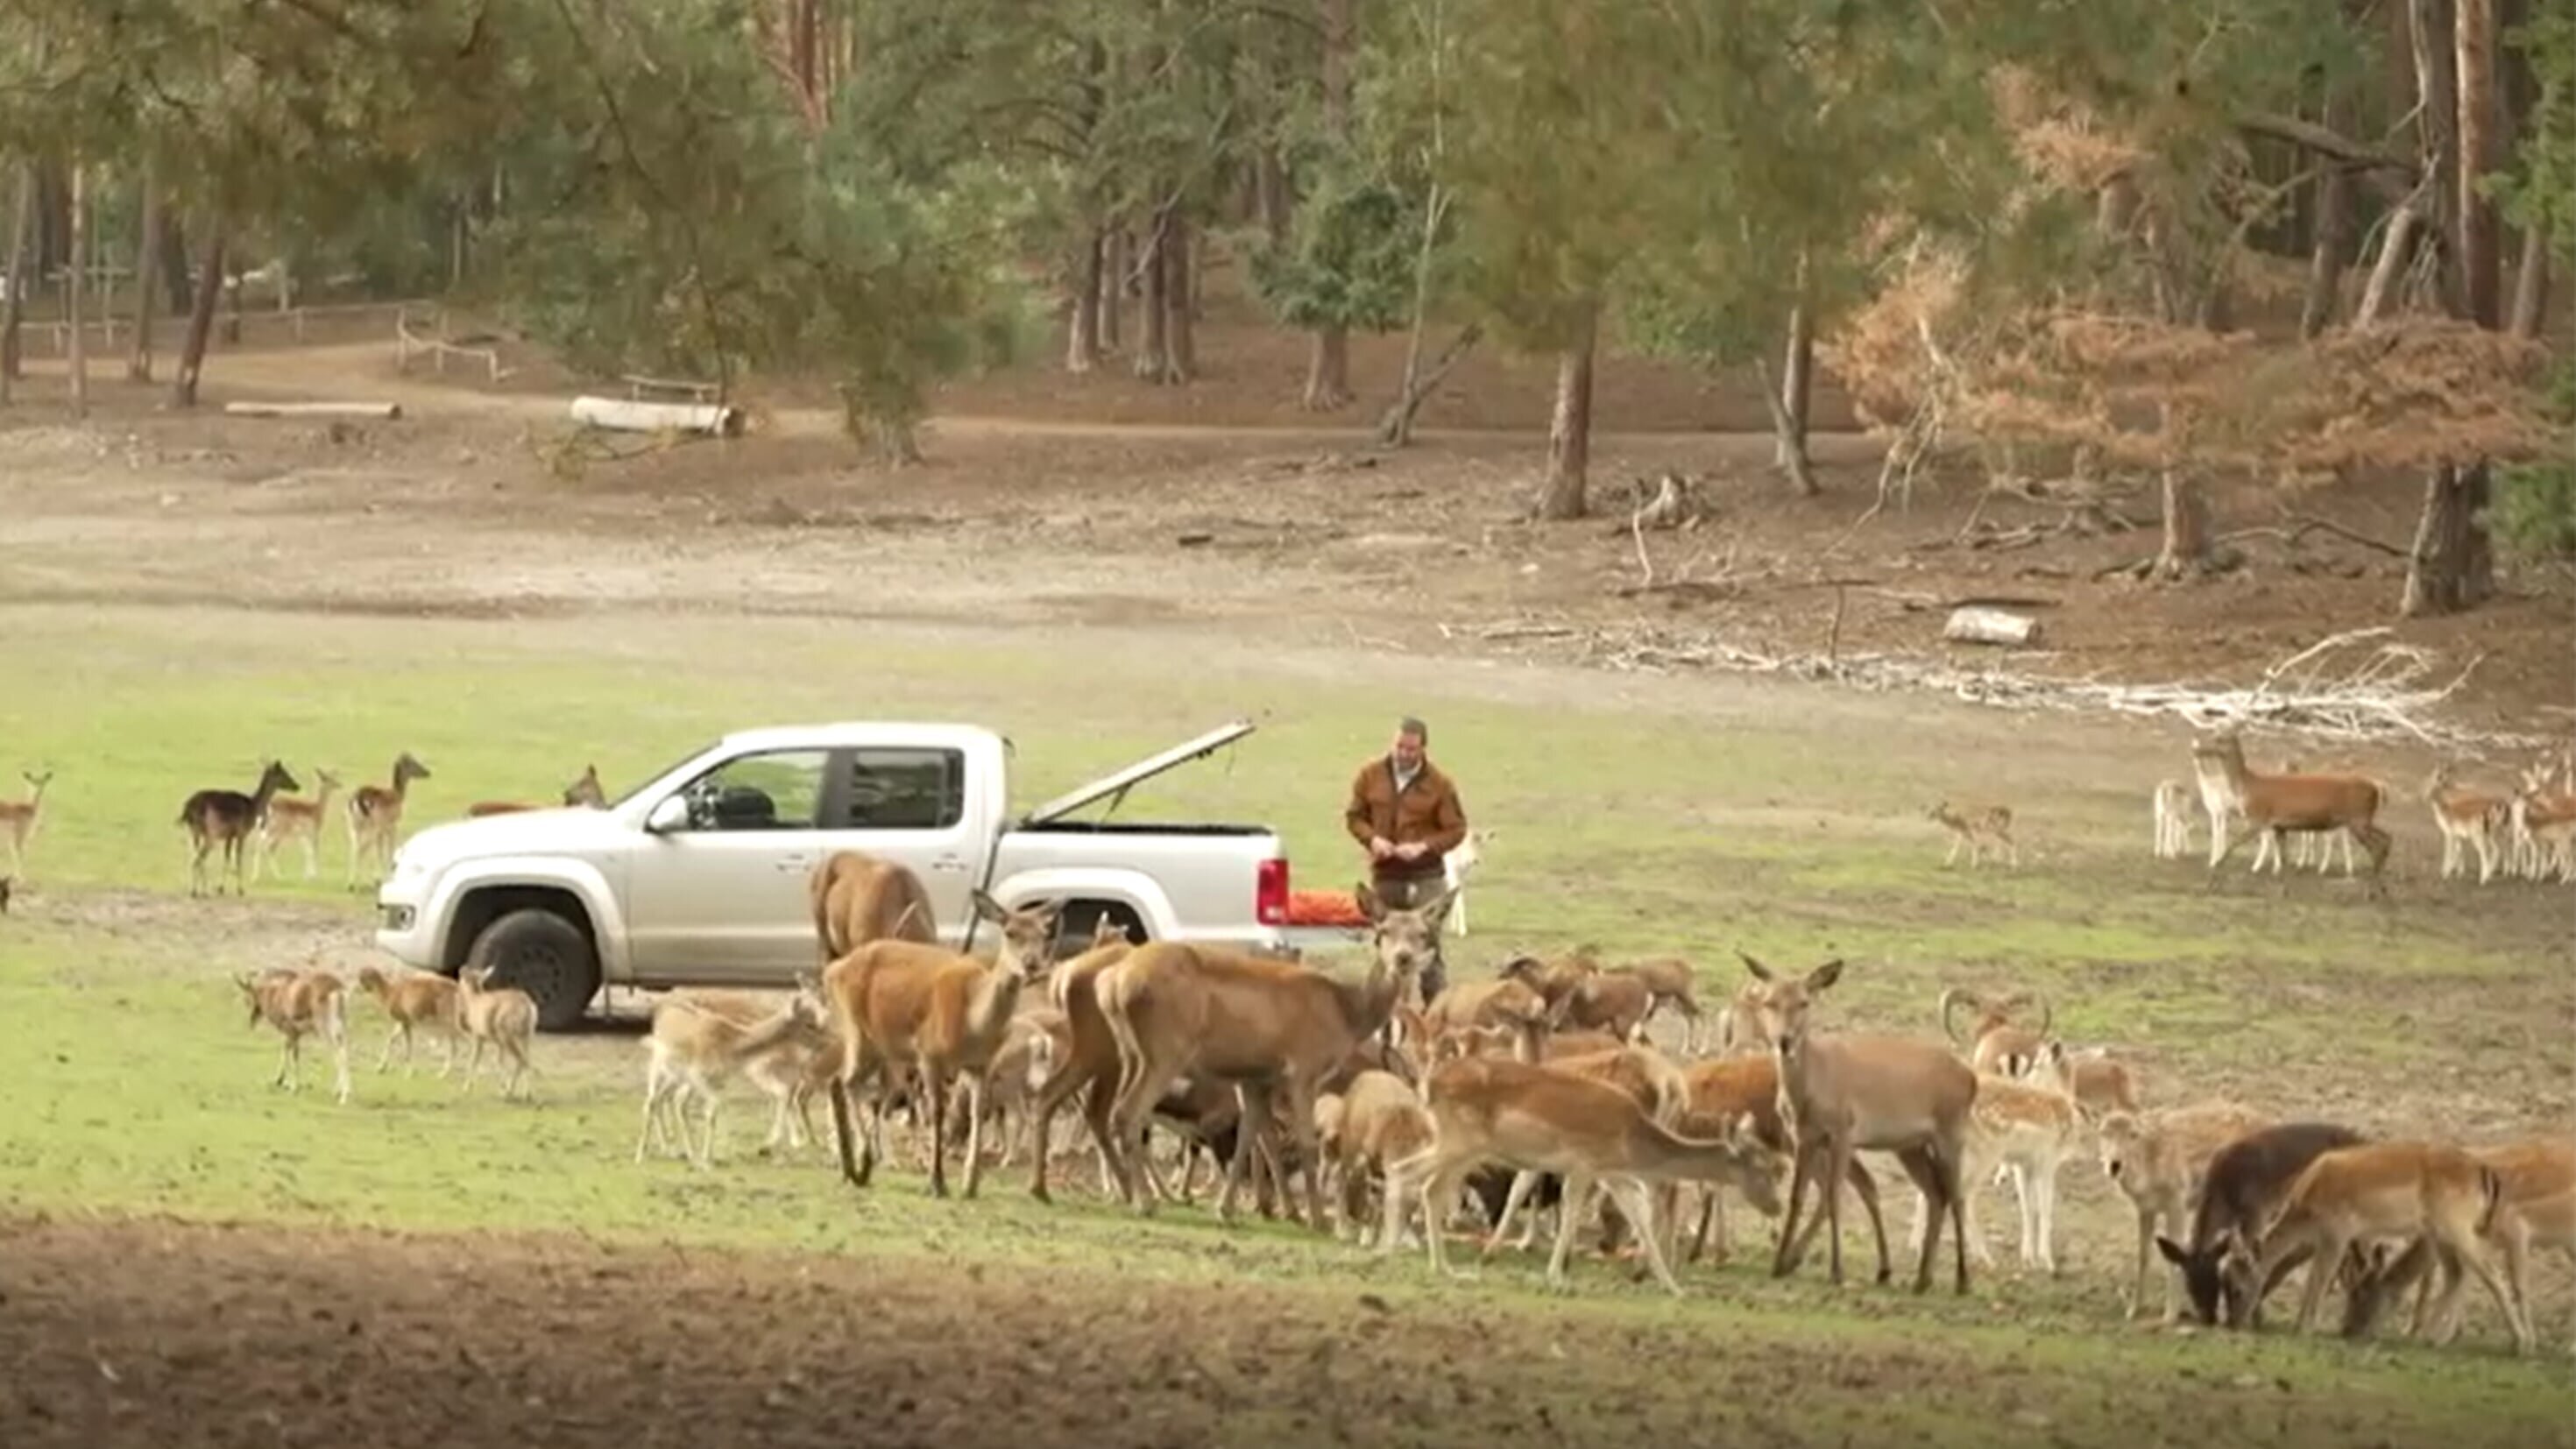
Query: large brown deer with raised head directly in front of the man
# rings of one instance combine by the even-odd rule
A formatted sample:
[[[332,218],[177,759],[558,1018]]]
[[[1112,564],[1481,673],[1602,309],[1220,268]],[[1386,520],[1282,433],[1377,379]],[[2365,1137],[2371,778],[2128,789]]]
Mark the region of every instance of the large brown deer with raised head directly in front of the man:
[[[1414,978],[1437,960],[1437,929],[1448,916],[1448,891],[1391,909],[1360,883],[1368,914],[1370,970],[1365,981],[1337,981],[1319,970],[1242,952],[1149,942],[1100,973],[1092,991],[1118,1037],[1118,1096],[1110,1107],[1113,1171],[1121,1197],[1139,1202],[1126,1148],[1144,1130],[1146,1112],[1175,1076],[1208,1076],[1244,1089],[1244,1122],[1226,1163],[1216,1215],[1234,1220],[1255,1143],[1270,1127],[1270,1091],[1278,1089],[1288,1132],[1306,1179],[1306,1223],[1324,1230],[1324,1192],[1316,1184],[1314,1096],[1319,1081],[1376,1037]]]

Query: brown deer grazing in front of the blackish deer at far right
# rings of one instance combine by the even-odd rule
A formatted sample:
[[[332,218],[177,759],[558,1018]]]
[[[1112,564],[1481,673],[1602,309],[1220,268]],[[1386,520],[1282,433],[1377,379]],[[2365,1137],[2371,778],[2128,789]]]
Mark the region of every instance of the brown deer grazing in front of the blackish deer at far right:
[[[2519,1274],[2506,1282],[2488,1253],[2499,1215],[2509,1212],[2504,1176],[2465,1148],[2447,1143],[2334,1148],[2298,1174],[2262,1243],[2251,1248],[2251,1266],[2241,1269],[2241,1282],[2257,1284],[2246,1313],[2262,1307],[2262,1284],[2280,1282],[2293,1259],[2311,1259],[2308,1292],[2298,1305],[2298,1331],[2306,1333],[2316,1323],[2326,1284],[2336,1277],[2321,1271],[2321,1264],[2342,1264],[2349,1248],[2429,1238],[2445,1266],[2458,1261],[2478,1277],[2514,1331],[2514,1351],[2530,1354],[2532,1318],[2524,1284]],[[2452,1307],[2463,1287],[2452,1277],[2434,1310],[2450,1328],[2458,1328]]]

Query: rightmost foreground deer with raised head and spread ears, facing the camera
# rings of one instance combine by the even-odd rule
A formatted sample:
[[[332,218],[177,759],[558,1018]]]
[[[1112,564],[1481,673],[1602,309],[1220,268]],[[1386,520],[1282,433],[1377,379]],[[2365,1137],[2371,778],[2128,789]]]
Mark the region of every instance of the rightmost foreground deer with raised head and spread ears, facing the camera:
[[[1772,1277],[1798,1266],[1798,1199],[1808,1184],[1824,1197],[1832,1277],[1842,1284],[1842,1194],[1834,1186],[1850,1176],[1855,1150],[1896,1153],[1927,1199],[1929,1228],[1914,1264],[1914,1292],[1932,1287],[1932,1259],[1940,1253],[1942,1220],[1955,1233],[1958,1292],[1968,1292],[1968,1228],[1960,1171],[1968,1150],[1968,1109],[1976,1104],[1976,1071],[1955,1055],[1911,1037],[1839,1032],[1819,1037],[1808,1029],[1814,1001],[1842,978],[1842,963],[1829,960],[1803,978],[1772,975],[1747,952],[1744,968],[1762,981],[1752,999],[1754,1019],[1780,1058],[1780,1114],[1798,1148],[1798,1168],[1788,1189],[1788,1217],[1780,1223],[1780,1253]],[[1814,1235],[1816,1223],[1806,1225]]]

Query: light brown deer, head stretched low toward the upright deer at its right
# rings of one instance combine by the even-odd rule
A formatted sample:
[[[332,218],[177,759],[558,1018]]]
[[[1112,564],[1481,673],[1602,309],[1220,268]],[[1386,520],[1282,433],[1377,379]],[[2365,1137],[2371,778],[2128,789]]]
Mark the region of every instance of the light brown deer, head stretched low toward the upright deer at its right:
[[[1582,1225],[1579,1204],[1600,1184],[1620,1217],[1636,1228],[1656,1282],[1680,1297],[1682,1284],[1664,1259],[1667,1233],[1656,1223],[1646,1184],[1754,1184],[1767,1181],[1772,1166],[1770,1153],[1744,1138],[1741,1122],[1718,1140],[1680,1138],[1649,1117],[1631,1094],[1553,1066],[1458,1058],[1432,1068],[1422,1102],[1432,1117],[1432,1145],[1388,1168],[1378,1253],[1394,1253],[1406,1210],[1422,1204],[1432,1269],[1440,1274],[1453,1269],[1448,1233],[1435,1215],[1455,1199],[1473,1168],[1502,1163],[1564,1179],[1548,1287],[1566,1287],[1566,1256]]]

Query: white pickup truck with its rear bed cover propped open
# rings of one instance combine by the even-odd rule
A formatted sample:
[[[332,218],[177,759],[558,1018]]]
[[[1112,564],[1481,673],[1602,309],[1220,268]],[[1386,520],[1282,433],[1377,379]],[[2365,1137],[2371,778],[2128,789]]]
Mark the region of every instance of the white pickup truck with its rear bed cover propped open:
[[[835,849],[909,865],[940,939],[974,950],[971,893],[1061,898],[1064,934],[1103,916],[1131,939],[1311,945],[1288,929],[1270,826],[1072,821],[1252,734],[1234,721],[1010,816],[1010,741],[958,723],[824,723],[729,734],[605,808],[430,826],[376,891],[376,945],[453,975],[466,960],[564,1029],[603,983],[791,986],[817,965],[806,872]]]

